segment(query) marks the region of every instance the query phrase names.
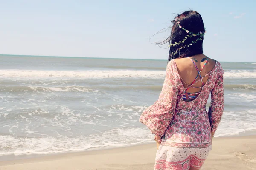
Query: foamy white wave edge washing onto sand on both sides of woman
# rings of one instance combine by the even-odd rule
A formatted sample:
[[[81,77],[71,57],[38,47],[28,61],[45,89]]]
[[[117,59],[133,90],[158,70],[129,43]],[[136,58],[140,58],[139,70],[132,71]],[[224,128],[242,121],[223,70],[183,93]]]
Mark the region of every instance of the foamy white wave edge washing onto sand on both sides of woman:
[[[255,112],[256,110],[251,110]],[[236,117],[237,113],[224,112],[227,119],[223,118],[215,137],[233,136],[247,131],[256,130],[254,122],[244,123],[240,119],[232,120],[229,116]],[[253,120],[255,119],[253,116]],[[58,133],[57,133],[58,134]],[[83,151],[124,147],[134,144],[151,143],[154,136],[147,128],[114,128],[108,131],[96,132],[88,136],[48,136],[27,137],[0,135],[0,155],[22,154],[51,154],[67,151]]]

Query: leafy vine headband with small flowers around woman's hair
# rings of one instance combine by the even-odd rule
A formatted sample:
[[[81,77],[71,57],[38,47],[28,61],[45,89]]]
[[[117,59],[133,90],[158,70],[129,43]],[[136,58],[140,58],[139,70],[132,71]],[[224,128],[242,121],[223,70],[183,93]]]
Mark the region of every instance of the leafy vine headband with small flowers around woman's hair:
[[[189,47],[190,45],[193,45],[194,43],[196,43],[197,41],[199,40],[203,40],[202,37],[204,36],[204,34],[206,33],[205,31],[205,28],[204,28],[204,31],[203,33],[200,31],[199,33],[195,34],[185,28],[183,28],[181,25],[180,25],[180,21],[177,20],[177,18],[175,18],[175,21],[177,22],[177,24],[179,25],[179,28],[180,29],[183,29],[186,33],[188,33],[188,35],[185,36],[185,38],[182,40],[182,41],[179,41],[179,42],[174,42],[173,44],[171,43],[169,45],[169,47],[171,46],[175,46],[175,45],[180,45],[181,43],[184,44],[184,42],[187,40],[187,38],[191,38],[191,37],[195,37],[195,36],[200,36],[199,38],[197,38],[195,41],[192,41],[191,43],[189,43],[189,45],[185,44],[183,47],[180,47],[178,50],[176,50],[175,52],[172,52],[171,55],[176,55],[178,51],[180,51],[181,49],[184,49],[185,47]]]

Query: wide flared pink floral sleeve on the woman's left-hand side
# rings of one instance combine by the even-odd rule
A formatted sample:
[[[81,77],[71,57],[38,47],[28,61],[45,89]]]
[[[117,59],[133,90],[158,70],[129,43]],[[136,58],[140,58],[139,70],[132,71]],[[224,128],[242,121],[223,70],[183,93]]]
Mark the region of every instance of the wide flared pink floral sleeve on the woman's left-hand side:
[[[158,100],[143,111],[140,122],[157,136],[163,136],[176,108],[178,90],[172,74],[171,62],[166,68],[166,77]]]

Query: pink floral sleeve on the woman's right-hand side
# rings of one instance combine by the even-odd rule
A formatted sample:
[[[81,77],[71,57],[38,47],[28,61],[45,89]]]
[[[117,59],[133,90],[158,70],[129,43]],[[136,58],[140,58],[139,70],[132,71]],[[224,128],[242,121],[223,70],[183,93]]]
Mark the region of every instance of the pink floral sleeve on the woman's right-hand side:
[[[215,82],[214,88],[211,91],[211,105],[208,115],[212,132],[217,130],[218,124],[221,121],[221,116],[224,110],[224,88],[223,88],[223,70]]]

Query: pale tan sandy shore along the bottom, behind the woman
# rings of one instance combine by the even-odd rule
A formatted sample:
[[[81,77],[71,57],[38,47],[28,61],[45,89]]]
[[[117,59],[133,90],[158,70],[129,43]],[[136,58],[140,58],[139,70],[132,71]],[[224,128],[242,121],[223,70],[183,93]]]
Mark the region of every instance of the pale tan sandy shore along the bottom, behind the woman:
[[[0,170],[153,170],[155,144],[0,161]],[[256,136],[215,138],[202,170],[256,170]]]

